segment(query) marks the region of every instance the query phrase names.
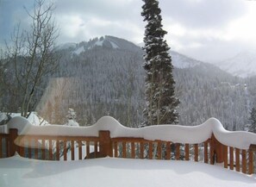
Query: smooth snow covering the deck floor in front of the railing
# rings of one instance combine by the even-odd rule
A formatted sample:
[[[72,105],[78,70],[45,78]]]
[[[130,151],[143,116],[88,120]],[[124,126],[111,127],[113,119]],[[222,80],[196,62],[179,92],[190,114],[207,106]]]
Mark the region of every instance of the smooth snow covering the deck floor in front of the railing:
[[[16,155],[0,159],[2,187],[255,187],[256,176],[190,161],[87,159],[41,161]]]

